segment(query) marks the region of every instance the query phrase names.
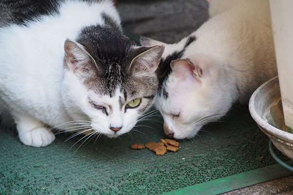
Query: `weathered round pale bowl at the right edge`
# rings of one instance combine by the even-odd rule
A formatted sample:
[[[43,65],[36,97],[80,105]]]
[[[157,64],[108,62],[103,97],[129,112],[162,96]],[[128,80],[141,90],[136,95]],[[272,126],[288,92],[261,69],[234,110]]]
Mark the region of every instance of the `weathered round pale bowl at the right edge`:
[[[286,132],[278,77],[274,77],[252,94],[249,101],[251,117],[270,137],[274,146],[293,160],[293,134]]]

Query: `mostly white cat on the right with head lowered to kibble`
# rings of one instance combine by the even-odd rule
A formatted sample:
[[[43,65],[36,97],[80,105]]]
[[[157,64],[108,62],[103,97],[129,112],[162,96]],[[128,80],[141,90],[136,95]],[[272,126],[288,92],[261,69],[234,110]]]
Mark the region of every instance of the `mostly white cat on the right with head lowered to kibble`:
[[[178,43],[141,39],[144,46],[165,46],[155,104],[169,137],[194,137],[277,75],[268,0],[211,0],[209,14]]]

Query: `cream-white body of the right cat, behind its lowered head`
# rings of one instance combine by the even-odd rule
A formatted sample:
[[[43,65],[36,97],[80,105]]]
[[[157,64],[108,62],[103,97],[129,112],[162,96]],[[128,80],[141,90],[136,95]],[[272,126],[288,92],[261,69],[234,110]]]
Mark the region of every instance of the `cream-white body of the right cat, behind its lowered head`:
[[[210,3],[213,9],[219,1]],[[229,74],[226,77],[245,102],[257,86],[277,75],[269,1],[224,0],[219,10],[211,12],[185,55],[209,54],[217,62],[214,66]]]

